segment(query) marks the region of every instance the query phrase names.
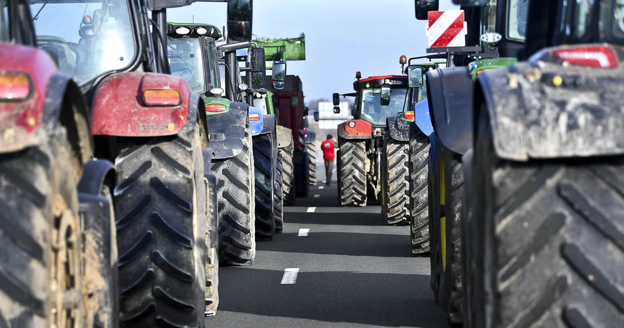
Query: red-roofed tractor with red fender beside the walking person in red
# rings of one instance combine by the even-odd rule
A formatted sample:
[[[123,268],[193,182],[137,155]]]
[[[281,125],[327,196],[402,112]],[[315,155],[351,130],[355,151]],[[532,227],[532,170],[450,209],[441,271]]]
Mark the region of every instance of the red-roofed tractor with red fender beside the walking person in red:
[[[338,125],[338,199],[341,206],[366,206],[369,195],[379,199],[383,189],[382,149],[388,139],[386,118],[404,111],[407,95],[407,77],[386,75],[361,79],[361,73],[357,72],[356,78],[358,80],[353,83],[356,92],[342,95],[356,98],[353,119]],[[339,96],[333,94],[334,113],[339,112]],[[403,192],[406,191],[407,186]],[[408,217],[404,212],[399,211],[399,215],[388,223],[406,224]]]

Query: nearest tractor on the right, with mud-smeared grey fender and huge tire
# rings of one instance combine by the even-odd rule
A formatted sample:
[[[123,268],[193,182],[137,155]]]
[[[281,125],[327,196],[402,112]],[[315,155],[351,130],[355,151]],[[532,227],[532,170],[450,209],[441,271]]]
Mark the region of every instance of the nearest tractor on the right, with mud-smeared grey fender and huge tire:
[[[505,31],[525,37],[522,61],[479,74],[470,104],[464,322],[620,327],[624,4],[510,1],[507,11],[525,4],[526,29]]]

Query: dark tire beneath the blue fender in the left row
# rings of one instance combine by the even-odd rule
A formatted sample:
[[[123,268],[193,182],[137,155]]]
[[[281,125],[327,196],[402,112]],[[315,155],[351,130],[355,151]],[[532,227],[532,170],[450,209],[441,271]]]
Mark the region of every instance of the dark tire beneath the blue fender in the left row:
[[[255,170],[256,241],[273,240],[273,147],[271,133],[254,136],[253,162]]]

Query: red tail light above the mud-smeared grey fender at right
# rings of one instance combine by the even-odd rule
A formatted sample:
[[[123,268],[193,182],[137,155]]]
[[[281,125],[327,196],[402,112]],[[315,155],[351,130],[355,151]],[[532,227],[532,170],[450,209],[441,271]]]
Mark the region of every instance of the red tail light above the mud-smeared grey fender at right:
[[[609,46],[565,47],[552,50],[552,54],[571,65],[596,68],[618,68],[620,65],[615,50]]]

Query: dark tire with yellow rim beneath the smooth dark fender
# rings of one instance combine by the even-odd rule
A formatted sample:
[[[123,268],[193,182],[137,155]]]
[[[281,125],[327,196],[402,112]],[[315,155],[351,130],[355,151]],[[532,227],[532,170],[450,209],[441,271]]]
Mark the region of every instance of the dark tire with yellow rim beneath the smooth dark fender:
[[[433,215],[429,218],[432,289],[451,324],[461,324],[463,320],[461,218],[464,171],[459,155],[442,148],[441,156],[440,174],[437,177],[440,209],[433,211],[430,209]],[[429,184],[434,179],[436,177],[430,174]]]

